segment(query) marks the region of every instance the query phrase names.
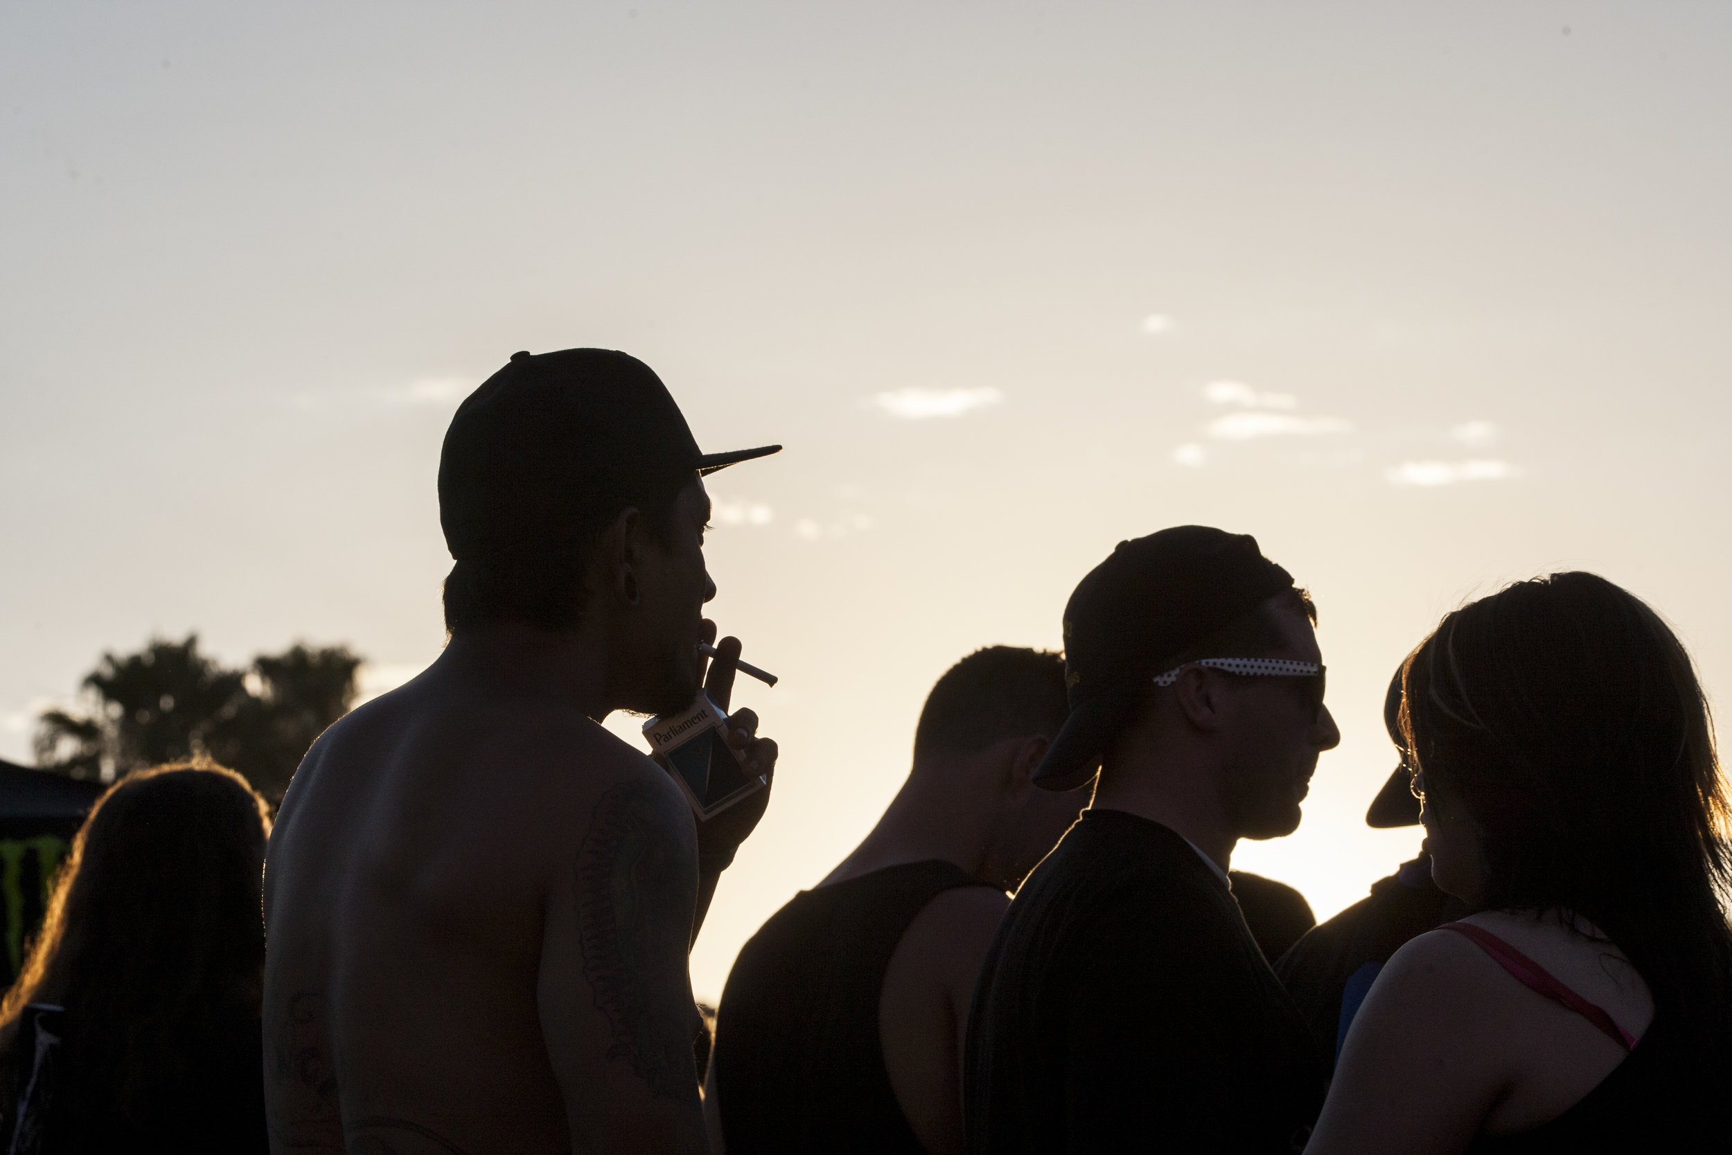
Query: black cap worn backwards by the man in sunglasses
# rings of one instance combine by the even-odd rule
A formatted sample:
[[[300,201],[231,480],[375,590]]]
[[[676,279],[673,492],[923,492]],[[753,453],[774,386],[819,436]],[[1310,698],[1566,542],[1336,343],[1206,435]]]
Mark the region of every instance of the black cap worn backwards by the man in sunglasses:
[[[1249,533],[1179,525],[1119,542],[1065,604],[1070,717],[1036,784],[1074,790],[1093,778],[1173,658],[1292,584]]]

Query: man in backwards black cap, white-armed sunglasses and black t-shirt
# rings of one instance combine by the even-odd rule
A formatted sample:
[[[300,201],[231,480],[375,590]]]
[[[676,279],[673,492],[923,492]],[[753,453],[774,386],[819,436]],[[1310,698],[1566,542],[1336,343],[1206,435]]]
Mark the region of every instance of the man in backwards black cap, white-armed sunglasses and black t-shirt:
[[[1036,781],[1100,779],[980,971],[972,1152],[1304,1145],[1322,1070],[1226,869],[1299,826],[1341,738],[1313,618],[1254,539],[1205,526],[1121,542],[1070,596],[1070,717]]]

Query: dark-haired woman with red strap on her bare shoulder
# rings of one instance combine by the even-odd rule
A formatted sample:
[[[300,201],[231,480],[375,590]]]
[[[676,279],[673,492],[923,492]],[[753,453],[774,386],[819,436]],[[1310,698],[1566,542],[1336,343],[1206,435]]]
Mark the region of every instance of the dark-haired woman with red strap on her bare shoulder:
[[[1666,623],[1592,573],[1519,582],[1408,658],[1432,876],[1347,1032],[1311,1155],[1729,1150],[1727,790]]]

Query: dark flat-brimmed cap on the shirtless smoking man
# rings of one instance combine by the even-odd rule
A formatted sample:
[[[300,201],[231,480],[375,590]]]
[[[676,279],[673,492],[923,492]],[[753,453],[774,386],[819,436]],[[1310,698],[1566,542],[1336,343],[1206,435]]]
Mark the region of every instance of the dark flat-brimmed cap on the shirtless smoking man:
[[[584,511],[675,492],[781,445],[705,454],[662,379],[636,357],[513,353],[464,398],[438,462],[438,519],[457,561],[570,552]]]

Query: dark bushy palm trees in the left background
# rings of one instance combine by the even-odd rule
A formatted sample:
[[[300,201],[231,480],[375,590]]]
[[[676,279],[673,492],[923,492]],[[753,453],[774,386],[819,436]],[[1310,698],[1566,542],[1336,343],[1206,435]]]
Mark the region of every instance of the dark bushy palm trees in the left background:
[[[88,710],[36,720],[36,765],[113,779],[177,758],[213,758],[279,802],[313,739],[355,701],[360,658],[345,646],[294,644],[229,670],[199,653],[197,634],[102,655],[83,681]]]

